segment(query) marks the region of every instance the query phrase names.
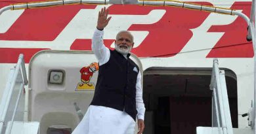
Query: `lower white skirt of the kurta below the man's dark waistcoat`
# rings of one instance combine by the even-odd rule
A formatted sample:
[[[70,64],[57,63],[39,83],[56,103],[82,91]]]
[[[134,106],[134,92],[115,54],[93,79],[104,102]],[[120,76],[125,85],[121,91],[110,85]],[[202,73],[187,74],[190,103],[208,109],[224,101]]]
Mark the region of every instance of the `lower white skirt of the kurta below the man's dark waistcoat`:
[[[129,114],[109,107],[91,105],[72,134],[134,134]]]

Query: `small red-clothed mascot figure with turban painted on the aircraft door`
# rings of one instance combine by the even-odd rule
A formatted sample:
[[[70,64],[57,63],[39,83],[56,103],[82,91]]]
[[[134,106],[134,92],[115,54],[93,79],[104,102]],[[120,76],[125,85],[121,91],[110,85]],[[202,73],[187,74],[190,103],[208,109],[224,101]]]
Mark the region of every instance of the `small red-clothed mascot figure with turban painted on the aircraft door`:
[[[83,86],[83,84],[87,84],[88,86],[93,86],[93,84],[89,83],[93,73],[98,71],[98,63],[93,62],[88,67],[83,67],[80,69],[81,73],[81,84],[79,86]]]

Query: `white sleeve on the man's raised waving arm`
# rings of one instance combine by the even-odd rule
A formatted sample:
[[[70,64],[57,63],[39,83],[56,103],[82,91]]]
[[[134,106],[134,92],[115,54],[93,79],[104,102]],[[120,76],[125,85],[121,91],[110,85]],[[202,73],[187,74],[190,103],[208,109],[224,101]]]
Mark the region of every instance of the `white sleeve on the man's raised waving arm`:
[[[107,63],[110,59],[110,50],[103,44],[104,31],[95,30],[92,40],[92,50],[98,59],[99,65]]]

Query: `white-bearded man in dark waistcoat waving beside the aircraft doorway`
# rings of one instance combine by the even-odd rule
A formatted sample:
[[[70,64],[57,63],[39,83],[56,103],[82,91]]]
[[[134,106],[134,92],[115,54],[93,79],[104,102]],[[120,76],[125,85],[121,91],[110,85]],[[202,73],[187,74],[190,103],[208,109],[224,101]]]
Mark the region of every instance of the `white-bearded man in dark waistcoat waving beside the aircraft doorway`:
[[[108,9],[98,12],[92,49],[99,62],[98,80],[93,101],[83,120],[72,134],[134,134],[138,118],[138,134],[144,130],[144,103],[141,74],[129,56],[133,35],[119,31],[115,50],[103,44],[104,27],[108,25]]]

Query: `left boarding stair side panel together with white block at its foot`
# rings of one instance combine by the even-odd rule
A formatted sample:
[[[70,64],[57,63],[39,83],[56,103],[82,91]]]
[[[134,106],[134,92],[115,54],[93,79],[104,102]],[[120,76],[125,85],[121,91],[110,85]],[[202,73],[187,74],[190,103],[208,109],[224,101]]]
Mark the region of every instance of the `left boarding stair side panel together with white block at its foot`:
[[[0,134],[37,134],[39,122],[28,122],[28,104],[25,104],[28,84],[24,56],[11,69],[0,104]]]

